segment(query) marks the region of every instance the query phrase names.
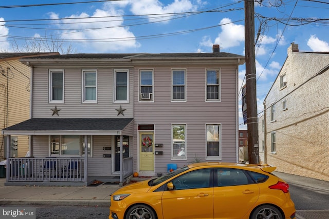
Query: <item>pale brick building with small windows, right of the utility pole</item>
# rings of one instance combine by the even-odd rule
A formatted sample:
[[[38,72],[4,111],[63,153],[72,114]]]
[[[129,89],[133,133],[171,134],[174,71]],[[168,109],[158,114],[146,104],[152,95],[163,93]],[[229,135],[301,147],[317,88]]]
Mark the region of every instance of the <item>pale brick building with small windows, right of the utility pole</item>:
[[[266,163],[280,172],[329,181],[329,52],[297,44],[264,101]]]

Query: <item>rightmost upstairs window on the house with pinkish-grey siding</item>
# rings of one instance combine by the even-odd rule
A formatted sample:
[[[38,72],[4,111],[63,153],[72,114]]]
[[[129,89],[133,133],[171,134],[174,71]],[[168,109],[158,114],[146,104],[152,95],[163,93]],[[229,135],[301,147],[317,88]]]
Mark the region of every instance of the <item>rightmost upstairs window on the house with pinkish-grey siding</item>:
[[[221,71],[206,69],[206,101],[221,100]]]

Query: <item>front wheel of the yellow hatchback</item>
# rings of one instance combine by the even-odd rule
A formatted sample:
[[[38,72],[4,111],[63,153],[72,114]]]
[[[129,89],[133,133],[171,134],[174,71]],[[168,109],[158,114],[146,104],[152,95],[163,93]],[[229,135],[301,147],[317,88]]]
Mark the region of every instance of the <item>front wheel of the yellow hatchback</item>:
[[[147,205],[134,205],[125,216],[125,219],[156,219],[156,214],[152,208]]]

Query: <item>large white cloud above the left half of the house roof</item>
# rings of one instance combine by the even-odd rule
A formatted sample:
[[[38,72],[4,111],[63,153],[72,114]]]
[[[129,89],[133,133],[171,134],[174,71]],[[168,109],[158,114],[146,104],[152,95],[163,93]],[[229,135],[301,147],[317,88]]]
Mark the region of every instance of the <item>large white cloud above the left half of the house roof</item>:
[[[116,6],[117,5],[106,4],[103,9],[96,9],[92,15],[80,13],[78,15],[66,17],[70,19],[64,20],[65,24],[61,24],[61,28],[68,28],[70,30],[63,31],[61,37],[65,39],[65,41],[67,39],[75,40],[74,42],[81,42],[79,46],[84,48],[86,52],[115,52],[119,50],[123,51],[128,48],[138,48],[140,44],[136,41],[135,35],[129,28],[122,26],[123,17],[121,15],[123,11],[117,9]],[[58,15],[51,13],[50,16],[56,17]],[[81,17],[90,18],[74,19]],[[81,21],[83,21],[83,23]],[[90,41],[89,39],[98,40]]]

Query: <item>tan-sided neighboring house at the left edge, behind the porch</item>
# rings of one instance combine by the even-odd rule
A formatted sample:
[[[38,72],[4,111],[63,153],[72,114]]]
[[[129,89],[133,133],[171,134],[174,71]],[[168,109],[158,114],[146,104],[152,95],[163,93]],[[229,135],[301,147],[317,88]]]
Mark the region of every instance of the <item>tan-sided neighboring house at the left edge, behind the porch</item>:
[[[30,118],[30,67],[19,59],[59,53],[0,53],[0,127],[10,127]],[[6,138],[0,135],[0,161],[6,159]],[[12,135],[11,157],[24,157],[29,151],[29,136]]]

